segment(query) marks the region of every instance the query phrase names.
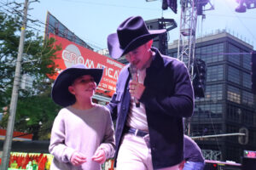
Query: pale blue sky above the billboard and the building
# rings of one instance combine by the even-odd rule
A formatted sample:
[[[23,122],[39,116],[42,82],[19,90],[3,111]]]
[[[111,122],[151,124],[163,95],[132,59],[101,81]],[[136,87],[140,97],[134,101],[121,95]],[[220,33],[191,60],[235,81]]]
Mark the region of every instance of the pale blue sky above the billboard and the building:
[[[1,0],[8,2],[9,0]],[[19,2],[24,2],[19,0]],[[179,0],[177,0],[179,3]],[[198,18],[197,36],[203,36],[218,29],[226,29],[236,37],[256,47],[256,8],[246,13],[236,13],[236,0],[212,0],[215,9],[206,12],[206,19]],[[119,24],[132,15],[141,15],[144,20],[161,18],[174,19],[177,28],[169,31],[170,41],[178,39],[181,8],[174,14],[170,8],[161,9],[161,0],[41,0],[31,3],[29,14],[33,20],[45,23],[47,11],[77,36],[98,48],[107,48],[108,34],[116,31]],[[36,27],[36,26],[34,26]],[[44,31],[43,26],[38,27]]]

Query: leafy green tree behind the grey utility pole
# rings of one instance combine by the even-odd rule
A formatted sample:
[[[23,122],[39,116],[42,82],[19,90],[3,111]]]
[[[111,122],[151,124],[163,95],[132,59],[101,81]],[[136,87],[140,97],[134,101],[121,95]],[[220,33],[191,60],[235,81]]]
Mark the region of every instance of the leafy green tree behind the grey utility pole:
[[[20,23],[19,16],[0,12],[0,112],[4,112],[1,110],[6,106],[9,108],[10,104],[20,41]],[[24,44],[21,75],[32,77],[33,82],[32,88],[19,89],[15,130],[45,136],[60,109],[50,98],[53,80],[48,76],[55,74],[57,65],[53,59],[56,59],[55,53],[61,47],[55,46],[55,39],[44,40],[32,29],[26,29]],[[7,126],[8,116],[9,114],[3,116],[1,127]]]

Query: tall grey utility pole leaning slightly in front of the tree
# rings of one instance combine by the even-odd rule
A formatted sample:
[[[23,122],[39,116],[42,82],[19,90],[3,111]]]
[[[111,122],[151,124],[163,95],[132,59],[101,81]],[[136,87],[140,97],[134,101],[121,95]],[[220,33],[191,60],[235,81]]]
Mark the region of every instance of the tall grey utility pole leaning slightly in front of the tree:
[[[19,84],[20,84],[21,59],[22,59],[24,41],[25,41],[27,9],[28,9],[28,0],[25,0],[24,10],[23,10],[24,12],[23,22],[22,22],[21,33],[20,33],[19,51],[18,51],[18,56],[16,61],[16,68],[15,68],[15,80],[14,80],[14,86],[13,86],[10,108],[9,108],[7,132],[6,132],[4,144],[3,144],[1,170],[7,170],[9,167],[9,156],[10,156],[11,144],[12,144],[13,133],[14,133],[15,114],[16,114],[16,107],[17,107],[17,101],[18,101]]]

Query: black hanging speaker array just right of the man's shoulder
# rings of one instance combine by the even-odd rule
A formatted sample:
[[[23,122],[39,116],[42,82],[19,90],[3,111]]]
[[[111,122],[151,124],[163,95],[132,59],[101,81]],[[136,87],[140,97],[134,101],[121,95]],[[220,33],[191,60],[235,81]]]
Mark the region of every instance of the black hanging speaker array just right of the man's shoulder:
[[[194,74],[193,74],[193,88],[195,97],[205,97],[206,90],[206,73],[207,66],[204,60],[195,59]]]

